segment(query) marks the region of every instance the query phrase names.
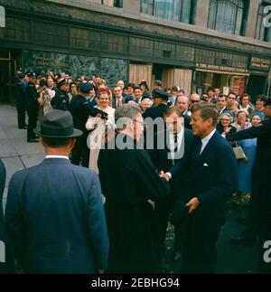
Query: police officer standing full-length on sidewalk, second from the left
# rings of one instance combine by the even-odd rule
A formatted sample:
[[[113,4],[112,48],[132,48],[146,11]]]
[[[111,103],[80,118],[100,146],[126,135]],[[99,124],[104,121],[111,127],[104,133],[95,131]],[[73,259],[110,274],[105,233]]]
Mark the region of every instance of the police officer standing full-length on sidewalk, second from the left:
[[[37,143],[36,136],[33,132],[33,129],[37,127],[37,118],[39,114],[40,104],[38,99],[40,97],[40,92],[36,89],[36,75],[33,72],[27,74],[29,81],[26,86],[26,109],[28,112],[28,127],[27,127],[27,142],[29,143]]]

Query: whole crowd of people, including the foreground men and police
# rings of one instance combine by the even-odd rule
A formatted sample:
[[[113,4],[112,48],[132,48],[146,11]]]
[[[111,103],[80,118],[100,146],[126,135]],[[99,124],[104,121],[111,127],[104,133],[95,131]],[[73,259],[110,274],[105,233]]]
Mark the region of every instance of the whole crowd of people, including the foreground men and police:
[[[99,75],[73,80],[53,71],[19,73],[14,94],[18,127],[46,151],[41,165],[14,174],[9,185],[7,239],[25,272],[159,273],[172,221],[181,271],[214,273],[234,193],[251,195],[246,234],[259,237],[262,255],[271,230],[266,96],[253,105],[246,93],[209,88],[200,96],[164,89],[161,80],[152,90],[146,80],[108,88]],[[164,127],[148,132],[156,118]],[[149,135],[154,144],[138,147]],[[262,257],[259,267],[270,271]]]

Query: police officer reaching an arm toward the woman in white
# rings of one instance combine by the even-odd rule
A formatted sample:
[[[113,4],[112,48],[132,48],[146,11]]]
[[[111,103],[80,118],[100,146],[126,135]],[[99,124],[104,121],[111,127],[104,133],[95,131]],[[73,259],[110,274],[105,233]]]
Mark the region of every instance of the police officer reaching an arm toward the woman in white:
[[[89,83],[79,84],[79,95],[73,97],[70,101],[70,113],[73,118],[73,126],[83,132],[83,135],[77,137],[76,144],[71,152],[71,163],[73,165],[81,165],[89,167],[89,147],[87,145],[87,138],[89,131],[86,129],[86,123],[89,116],[96,117],[100,115],[101,118],[107,118],[107,113],[93,108],[87,100],[89,91],[93,89],[93,85]]]

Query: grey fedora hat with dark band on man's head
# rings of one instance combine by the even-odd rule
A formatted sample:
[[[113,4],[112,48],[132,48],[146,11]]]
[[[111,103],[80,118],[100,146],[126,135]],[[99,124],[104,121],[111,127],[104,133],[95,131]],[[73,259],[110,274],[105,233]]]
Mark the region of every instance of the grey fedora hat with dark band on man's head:
[[[51,109],[42,120],[41,129],[35,129],[41,137],[71,138],[79,137],[82,131],[73,128],[73,120],[69,111]]]

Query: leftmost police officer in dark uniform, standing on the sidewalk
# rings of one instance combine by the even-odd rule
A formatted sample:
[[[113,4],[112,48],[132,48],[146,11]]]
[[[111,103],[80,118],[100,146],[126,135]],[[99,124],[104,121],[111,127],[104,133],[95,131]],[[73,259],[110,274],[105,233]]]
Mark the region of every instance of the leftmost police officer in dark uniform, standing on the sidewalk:
[[[26,97],[25,87],[23,85],[24,74],[19,73],[15,82],[14,96],[16,100],[17,119],[19,128],[27,128],[25,123],[25,109],[26,109]]]

